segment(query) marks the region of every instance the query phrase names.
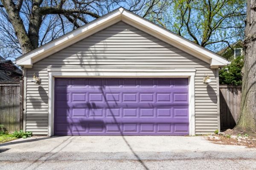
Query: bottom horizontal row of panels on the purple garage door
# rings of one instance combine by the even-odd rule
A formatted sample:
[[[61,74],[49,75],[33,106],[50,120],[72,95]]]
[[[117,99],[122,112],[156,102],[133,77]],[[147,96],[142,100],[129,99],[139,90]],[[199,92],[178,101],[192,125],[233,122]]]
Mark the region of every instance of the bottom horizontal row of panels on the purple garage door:
[[[107,123],[57,124],[58,135],[187,135],[188,124]]]

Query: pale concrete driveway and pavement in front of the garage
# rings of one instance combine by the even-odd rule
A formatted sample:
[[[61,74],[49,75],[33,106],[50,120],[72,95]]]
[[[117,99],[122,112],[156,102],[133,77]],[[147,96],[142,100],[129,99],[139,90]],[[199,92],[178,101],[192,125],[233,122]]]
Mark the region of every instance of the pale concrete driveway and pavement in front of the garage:
[[[54,136],[0,144],[1,170],[249,170],[256,149],[202,136]]]

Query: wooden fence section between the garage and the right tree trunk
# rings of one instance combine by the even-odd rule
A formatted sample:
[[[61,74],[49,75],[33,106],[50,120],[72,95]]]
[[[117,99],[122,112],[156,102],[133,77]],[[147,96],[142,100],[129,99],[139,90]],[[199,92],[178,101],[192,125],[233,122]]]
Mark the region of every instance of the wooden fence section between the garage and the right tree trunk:
[[[221,130],[233,128],[239,119],[241,86],[219,85]]]

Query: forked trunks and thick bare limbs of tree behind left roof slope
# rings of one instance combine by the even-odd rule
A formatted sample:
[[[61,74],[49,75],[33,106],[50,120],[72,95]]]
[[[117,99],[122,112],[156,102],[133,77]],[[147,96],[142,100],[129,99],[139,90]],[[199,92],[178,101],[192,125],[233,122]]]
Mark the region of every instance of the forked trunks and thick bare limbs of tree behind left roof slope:
[[[99,18],[100,15],[93,13],[87,8],[76,7],[71,9],[62,8],[63,4],[66,0],[58,1],[58,6],[41,6],[43,0],[32,0],[32,7],[29,10],[29,26],[28,31],[26,31],[22,17],[20,17],[20,9],[22,8],[23,0],[0,0],[3,3],[3,6],[6,9],[6,13],[8,14],[8,20],[12,23],[12,26],[15,31],[15,35],[19,42],[21,51],[23,54],[28,53],[29,51],[38,48],[38,40],[39,40],[39,31],[42,25],[42,18],[48,14],[62,14],[66,17],[71,23],[73,23],[76,28],[79,27],[79,24],[76,22],[76,19],[81,20],[84,23],[87,23],[81,14],[86,14],[88,16]],[[79,1],[73,0],[75,4],[85,4],[90,6],[90,3],[94,3],[98,0],[92,1]]]

